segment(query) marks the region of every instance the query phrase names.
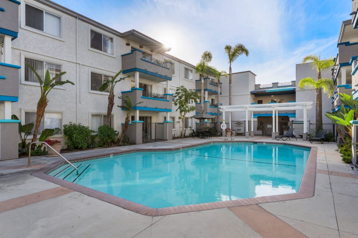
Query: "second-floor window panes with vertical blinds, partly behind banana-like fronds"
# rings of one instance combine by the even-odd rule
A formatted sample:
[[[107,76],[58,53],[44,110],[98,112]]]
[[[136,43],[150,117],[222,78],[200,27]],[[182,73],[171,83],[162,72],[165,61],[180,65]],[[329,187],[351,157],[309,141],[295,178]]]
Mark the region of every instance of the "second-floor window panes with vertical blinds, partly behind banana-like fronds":
[[[41,79],[44,78],[45,72],[47,70],[50,72],[51,78],[62,72],[62,65],[29,58],[25,58],[25,62],[34,67],[36,72],[40,75]],[[39,82],[34,72],[27,65],[25,65],[25,81]],[[55,81],[61,81],[61,77],[58,77]]]

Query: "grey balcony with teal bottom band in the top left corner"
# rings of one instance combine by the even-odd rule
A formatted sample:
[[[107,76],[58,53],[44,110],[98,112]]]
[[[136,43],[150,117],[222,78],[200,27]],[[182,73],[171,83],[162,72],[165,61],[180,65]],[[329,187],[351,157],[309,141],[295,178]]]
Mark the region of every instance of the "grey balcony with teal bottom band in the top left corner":
[[[17,2],[17,3],[16,3]],[[19,1],[1,1],[0,36],[1,34],[18,37],[19,32]]]

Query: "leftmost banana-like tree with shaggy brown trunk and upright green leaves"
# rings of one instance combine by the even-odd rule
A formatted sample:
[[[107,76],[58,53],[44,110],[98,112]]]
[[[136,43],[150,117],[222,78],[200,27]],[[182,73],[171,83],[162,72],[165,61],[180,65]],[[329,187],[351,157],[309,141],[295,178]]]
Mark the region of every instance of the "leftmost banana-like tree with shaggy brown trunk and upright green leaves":
[[[47,107],[48,93],[55,86],[61,86],[61,85],[64,85],[66,83],[71,83],[72,85],[74,85],[74,83],[71,82],[71,81],[68,81],[68,80],[66,80],[66,81],[56,81],[56,79],[59,79],[62,75],[66,74],[66,72],[60,72],[55,77],[51,78],[50,72],[48,70],[46,70],[44,80],[42,80],[40,75],[36,72],[36,70],[34,69],[34,67],[32,65],[30,65],[27,62],[25,62],[25,64],[26,64],[26,66],[29,67],[29,69],[32,70],[32,72],[37,77],[37,80],[39,81],[40,89],[41,89],[40,99],[39,99],[39,101],[37,103],[35,130],[34,130],[34,135],[32,137],[32,142],[35,142],[37,140],[37,133],[39,132],[39,126],[40,126],[41,120],[42,120],[42,118],[44,116],[45,109]]]

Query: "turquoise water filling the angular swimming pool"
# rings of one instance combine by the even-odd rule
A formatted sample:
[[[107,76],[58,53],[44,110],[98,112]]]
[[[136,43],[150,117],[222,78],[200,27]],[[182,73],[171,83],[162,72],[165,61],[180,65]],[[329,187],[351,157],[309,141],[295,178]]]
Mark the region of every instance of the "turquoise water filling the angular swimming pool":
[[[298,192],[310,149],[214,143],[69,164],[49,175],[152,208]]]

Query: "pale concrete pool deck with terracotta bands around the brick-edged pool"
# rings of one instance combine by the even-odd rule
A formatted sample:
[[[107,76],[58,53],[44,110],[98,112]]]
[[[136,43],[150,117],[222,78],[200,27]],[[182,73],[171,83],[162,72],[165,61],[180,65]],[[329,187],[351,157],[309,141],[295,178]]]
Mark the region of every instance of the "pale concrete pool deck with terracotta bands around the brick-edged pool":
[[[277,142],[269,137],[235,138]],[[172,148],[212,139],[185,138],[129,146]],[[0,237],[357,237],[358,179],[334,143],[288,140],[317,147],[314,196],[281,202],[144,216],[75,192],[32,172],[58,157],[0,161]],[[116,153],[114,147],[63,154],[75,158]]]

